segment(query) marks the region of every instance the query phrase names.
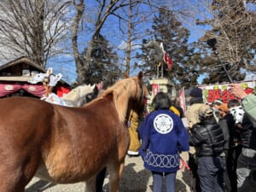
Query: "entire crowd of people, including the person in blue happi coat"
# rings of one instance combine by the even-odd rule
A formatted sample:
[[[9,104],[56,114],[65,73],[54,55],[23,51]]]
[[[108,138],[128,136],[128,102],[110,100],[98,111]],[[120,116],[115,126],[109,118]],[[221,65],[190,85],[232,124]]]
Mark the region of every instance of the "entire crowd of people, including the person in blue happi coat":
[[[230,92],[237,99],[209,104],[195,87],[187,113],[176,98],[159,92],[145,119],[131,113],[128,154],[141,155],[152,173],[153,192],[162,192],[164,181],[166,192],[175,192],[181,152],[189,153],[191,192],[256,191],[256,96],[239,84],[230,84]]]

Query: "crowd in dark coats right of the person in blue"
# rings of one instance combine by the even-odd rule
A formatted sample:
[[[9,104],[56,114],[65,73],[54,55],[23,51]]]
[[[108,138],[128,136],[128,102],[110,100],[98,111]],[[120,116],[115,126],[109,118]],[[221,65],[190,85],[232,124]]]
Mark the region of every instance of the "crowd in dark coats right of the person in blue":
[[[190,92],[189,122],[191,191],[253,192],[256,165],[256,96],[230,84],[237,99],[204,103],[202,90]]]

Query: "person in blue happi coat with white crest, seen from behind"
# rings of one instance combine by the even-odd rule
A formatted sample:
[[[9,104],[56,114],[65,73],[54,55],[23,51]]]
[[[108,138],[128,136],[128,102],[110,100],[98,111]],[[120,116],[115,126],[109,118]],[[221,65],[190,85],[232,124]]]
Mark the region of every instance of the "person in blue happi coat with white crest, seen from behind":
[[[144,167],[152,172],[153,192],[162,192],[163,178],[166,192],[175,192],[179,153],[189,150],[189,133],[182,120],[169,109],[172,102],[163,92],[154,96],[154,111],[139,128],[142,145],[139,150]]]

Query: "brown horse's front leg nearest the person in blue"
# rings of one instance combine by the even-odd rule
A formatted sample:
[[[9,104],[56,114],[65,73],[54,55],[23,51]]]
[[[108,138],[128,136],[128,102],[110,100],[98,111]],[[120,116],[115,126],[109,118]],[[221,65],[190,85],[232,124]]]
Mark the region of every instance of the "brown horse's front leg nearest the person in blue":
[[[119,192],[119,181],[124,171],[125,162],[109,167],[109,191]]]

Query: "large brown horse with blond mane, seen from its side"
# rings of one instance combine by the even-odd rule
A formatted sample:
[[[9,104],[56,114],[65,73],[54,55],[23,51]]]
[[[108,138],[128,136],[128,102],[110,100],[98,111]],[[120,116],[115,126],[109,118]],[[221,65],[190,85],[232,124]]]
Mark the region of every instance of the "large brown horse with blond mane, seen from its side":
[[[0,191],[23,192],[32,177],[55,183],[86,182],[109,173],[110,192],[119,191],[130,137],[131,109],[143,111],[143,74],[120,80],[81,108],[28,97],[0,100]]]

